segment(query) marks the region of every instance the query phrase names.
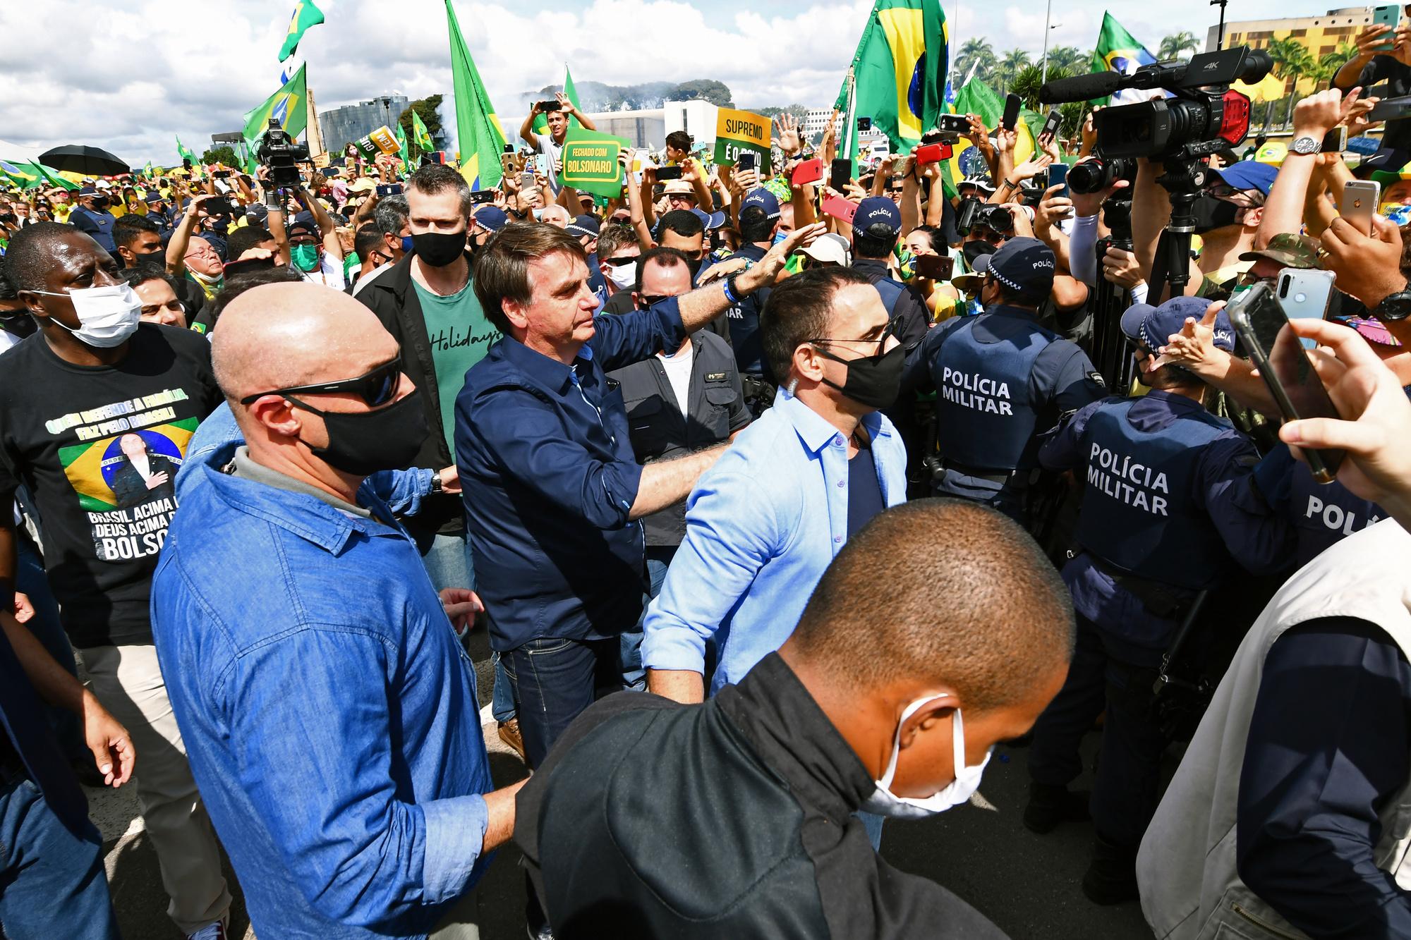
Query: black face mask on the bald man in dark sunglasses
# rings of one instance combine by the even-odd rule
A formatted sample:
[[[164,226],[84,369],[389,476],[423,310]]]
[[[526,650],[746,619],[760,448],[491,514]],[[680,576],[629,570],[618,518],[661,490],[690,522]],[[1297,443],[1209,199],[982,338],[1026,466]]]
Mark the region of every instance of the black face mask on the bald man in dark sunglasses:
[[[313,456],[334,470],[358,477],[411,466],[430,435],[420,388],[377,411],[319,411],[298,399],[291,401],[323,418],[329,446],[310,446]]]

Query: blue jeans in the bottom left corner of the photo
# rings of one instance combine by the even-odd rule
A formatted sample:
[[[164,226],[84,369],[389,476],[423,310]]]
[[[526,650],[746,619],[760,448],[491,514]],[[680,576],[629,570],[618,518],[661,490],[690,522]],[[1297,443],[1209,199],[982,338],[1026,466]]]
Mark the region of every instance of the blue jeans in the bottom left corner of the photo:
[[[72,833],[28,779],[0,785],[0,929],[10,940],[117,940],[92,823]]]

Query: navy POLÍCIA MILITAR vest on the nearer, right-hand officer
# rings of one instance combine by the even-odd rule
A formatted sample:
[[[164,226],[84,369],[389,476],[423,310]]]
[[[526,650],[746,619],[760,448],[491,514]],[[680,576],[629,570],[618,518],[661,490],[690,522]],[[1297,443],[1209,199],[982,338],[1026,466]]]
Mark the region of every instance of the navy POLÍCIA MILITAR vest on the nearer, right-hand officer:
[[[1137,577],[1201,590],[1230,569],[1219,532],[1195,502],[1201,452],[1228,425],[1204,411],[1158,432],[1127,421],[1136,398],[1098,408],[1082,435],[1086,488],[1078,543]]]

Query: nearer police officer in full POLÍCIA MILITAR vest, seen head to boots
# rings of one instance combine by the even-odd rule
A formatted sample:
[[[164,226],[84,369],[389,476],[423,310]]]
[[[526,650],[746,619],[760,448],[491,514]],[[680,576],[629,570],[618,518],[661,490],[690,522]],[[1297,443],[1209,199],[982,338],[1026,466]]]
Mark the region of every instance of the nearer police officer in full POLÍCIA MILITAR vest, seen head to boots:
[[[1208,303],[1178,296],[1133,305],[1122,332],[1136,344],[1137,374],[1150,392],[1106,398],[1074,415],[1038,452],[1050,470],[1086,483],[1078,514],[1081,552],[1064,567],[1078,614],[1078,642],[1062,690],[1034,724],[1024,824],[1046,833],[1082,816],[1067,785],[1078,776],[1078,745],[1101,713],[1102,761],[1089,809],[1096,845],[1082,891],[1096,903],[1137,896],[1136,850],[1156,810],[1165,738],[1151,687],[1195,596],[1240,565],[1277,570],[1287,525],[1236,508],[1257,454],[1228,419],[1202,406],[1205,384],[1178,367],[1154,367],[1153,349],[1202,316]],[[1215,343],[1230,350],[1223,313]]]

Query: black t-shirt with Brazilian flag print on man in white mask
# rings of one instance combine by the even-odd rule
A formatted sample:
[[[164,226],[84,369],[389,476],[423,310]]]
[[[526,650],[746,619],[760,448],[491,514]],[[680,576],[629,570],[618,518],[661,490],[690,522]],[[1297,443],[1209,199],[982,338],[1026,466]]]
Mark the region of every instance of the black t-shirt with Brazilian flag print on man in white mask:
[[[141,323],[117,366],[75,366],[42,335],[0,356],[0,505],[24,483],[75,646],[150,644],[147,601],[196,425],[220,402],[210,343]]]

